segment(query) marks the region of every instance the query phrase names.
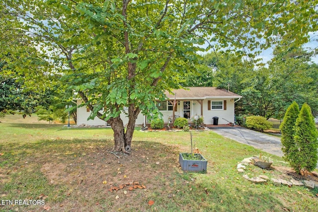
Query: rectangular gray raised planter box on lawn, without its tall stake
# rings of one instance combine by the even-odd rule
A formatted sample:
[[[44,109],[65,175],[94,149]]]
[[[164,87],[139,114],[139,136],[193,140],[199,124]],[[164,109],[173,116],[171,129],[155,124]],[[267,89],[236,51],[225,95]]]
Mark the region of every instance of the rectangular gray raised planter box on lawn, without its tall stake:
[[[201,160],[187,160],[182,157],[182,154],[184,153],[179,153],[179,163],[183,171],[207,171],[208,161],[201,154],[194,154],[199,155]]]

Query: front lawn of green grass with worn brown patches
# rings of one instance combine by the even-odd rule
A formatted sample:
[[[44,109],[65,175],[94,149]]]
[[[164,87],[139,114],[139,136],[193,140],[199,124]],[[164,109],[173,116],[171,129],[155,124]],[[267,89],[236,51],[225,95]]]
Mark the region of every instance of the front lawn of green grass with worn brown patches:
[[[62,125],[0,123],[0,200],[43,200],[43,205],[0,205],[0,211],[316,211],[318,190],[253,184],[243,179],[266,175],[291,178],[282,158],[273,168],[240,160],[259,150],[212,131],[193,132],[208,160],[207,173],[180,170],[179,152],[190,152],[188,132],[135,131],[131,155],[110,153],[111,129],[68,129]],[[107,183],[103,183],[107,181]],[[138,181],[146,189],[110,192],[112,185]],[[127,191],[127,194],[124,194]],[[116,199],[116,196],[119,198]],[[153,200],[154,205],[148,202]]]

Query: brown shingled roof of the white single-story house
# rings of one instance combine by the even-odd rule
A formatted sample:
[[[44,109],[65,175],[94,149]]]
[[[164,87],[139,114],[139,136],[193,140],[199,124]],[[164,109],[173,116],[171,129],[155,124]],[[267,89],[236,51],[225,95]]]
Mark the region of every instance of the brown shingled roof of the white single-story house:
[[[173,94],[170,94],[168,91],[165,92],[165,95],[169,99],[174,99],[174,94],[176,93],[176,99],[206,99],[206,98],[241,98],[242,96],[228,91],[223,88],[216,87],[187,87],[185,89],[176,89],[172,90]]]

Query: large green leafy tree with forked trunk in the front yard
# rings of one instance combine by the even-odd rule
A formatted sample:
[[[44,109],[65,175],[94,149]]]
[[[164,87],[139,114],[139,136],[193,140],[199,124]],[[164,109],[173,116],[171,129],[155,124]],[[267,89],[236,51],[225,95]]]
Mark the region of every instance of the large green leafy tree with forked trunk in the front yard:
[[[308,41],[308,32],[317,30],[312,16],[316,4],[1,0],[0,8],[9,23],[8,28],[1,26],[3,31],[21,32],[19,37],[38,49],[34,55],[22,54],[24,67],[38,69],[15,65],[29,78],[62,75],[59,83],[78,93],[92,111],[90,118],[97,116],[111,125],[114,150],[129,153],[138,114],[158,117],[154,100],[163,99],[165,90],[180,88],[184,75],[196,71],[198,51],[213,49],[241,57],[274,43],[300,45]],[[208,47],[201,48],[203,44]],[[120,118],[124,108],[129,117],[126,131]]]

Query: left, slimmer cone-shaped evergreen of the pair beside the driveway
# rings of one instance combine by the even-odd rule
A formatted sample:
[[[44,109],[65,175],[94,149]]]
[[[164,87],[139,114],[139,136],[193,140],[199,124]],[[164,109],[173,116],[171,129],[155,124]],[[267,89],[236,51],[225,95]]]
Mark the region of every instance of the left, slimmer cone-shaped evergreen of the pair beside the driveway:
[[[286,110],[284,119],[279,129],[282,132],[282,151],[284,152],[284,159],[289,161],[290,148],[295,145],[295,123],[299,114],[299,106],[293,102]]]

